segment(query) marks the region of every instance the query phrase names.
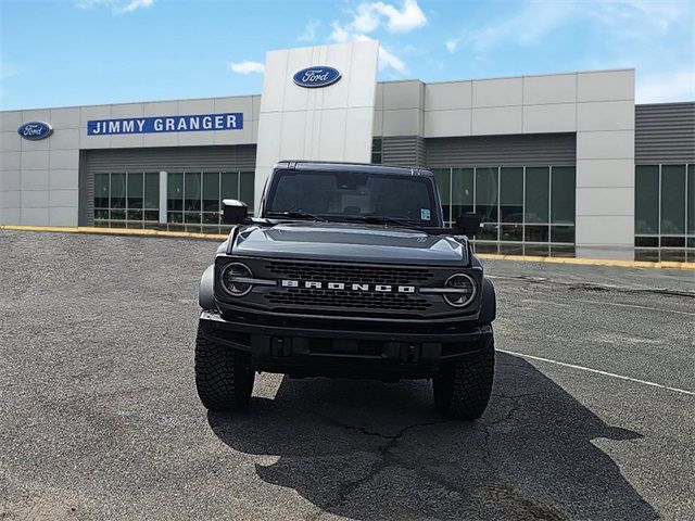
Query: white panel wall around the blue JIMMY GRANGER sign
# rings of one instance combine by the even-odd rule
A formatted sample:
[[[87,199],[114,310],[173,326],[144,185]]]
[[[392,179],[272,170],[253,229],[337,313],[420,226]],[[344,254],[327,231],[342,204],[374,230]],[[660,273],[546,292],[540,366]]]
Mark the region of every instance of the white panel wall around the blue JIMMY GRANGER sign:
[[[0,224],[77,226],[79,151],[150,147],[255,143],[260,96],[124,103],[37,111],[0,112]],[[90,119],[243,113],[243,128],[193,132],[88,136]],[[39,141],[22,139],[26,122],[51,124]]]

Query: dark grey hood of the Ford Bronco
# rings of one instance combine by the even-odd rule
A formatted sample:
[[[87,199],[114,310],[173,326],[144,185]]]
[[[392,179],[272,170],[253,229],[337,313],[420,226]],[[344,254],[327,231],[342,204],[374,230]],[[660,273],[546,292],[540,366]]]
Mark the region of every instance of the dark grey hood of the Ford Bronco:
[[[285,223],[248,226],[236,237],[235,255],[356,260],[386,264],[468,264],[466,239],[430,236],[383,225]]]

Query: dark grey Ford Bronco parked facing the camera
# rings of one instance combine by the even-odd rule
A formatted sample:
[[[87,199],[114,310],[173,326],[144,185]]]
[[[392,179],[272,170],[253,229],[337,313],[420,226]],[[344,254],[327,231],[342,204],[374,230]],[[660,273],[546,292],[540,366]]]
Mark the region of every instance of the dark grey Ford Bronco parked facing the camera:
[[[198,394],[212,410],[251,397],[256,372],[431,379],[448,418],[479,418],[494,370],[495,292],[468,239],[445,228],[431,171],[280,162],[258,216],[236,225],[200,285]]]

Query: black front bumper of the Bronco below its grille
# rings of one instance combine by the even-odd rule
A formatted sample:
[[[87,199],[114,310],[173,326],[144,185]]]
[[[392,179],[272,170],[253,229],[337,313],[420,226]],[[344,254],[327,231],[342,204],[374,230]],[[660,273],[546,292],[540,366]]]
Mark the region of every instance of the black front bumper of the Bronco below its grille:
[[[434,332],[381,326],[348,328],[321,321],[271,326],[203,312],[199,327],[206,340],[251,353],[254,369],[292,377],[429,378],[442,363],[493,345],[489,325],[463,323]]]

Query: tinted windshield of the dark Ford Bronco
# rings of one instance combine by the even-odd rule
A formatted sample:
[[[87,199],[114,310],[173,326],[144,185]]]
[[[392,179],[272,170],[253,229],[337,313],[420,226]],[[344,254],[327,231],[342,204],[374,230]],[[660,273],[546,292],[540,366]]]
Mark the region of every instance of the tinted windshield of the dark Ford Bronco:
[[[337,221],[391,221],[437,227],[431,178],[355,171],[278,171],[265,205],[267,217]]]

